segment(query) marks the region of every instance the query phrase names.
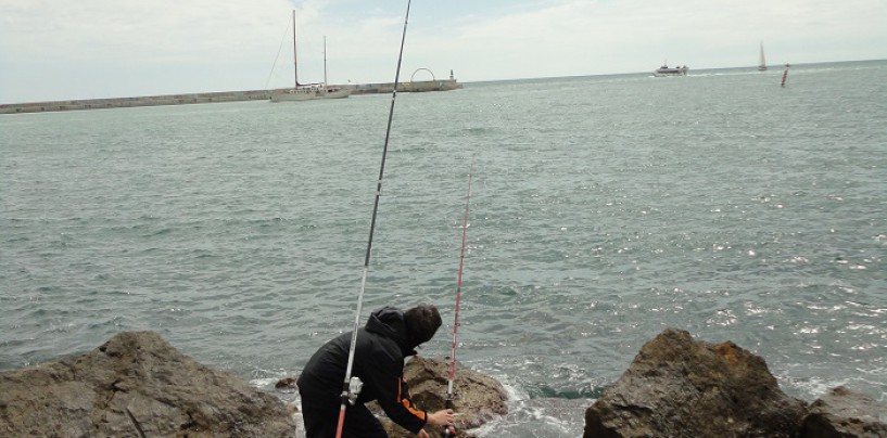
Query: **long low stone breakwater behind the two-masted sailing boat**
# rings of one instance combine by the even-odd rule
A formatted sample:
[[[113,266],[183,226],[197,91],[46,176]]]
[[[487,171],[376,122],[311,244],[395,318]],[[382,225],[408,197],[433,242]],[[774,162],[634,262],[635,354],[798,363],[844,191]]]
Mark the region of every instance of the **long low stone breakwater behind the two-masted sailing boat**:
[[[352,94],[390,93],[394,90],[394,82],[359,83],[334,86],[349,89]],[[455,79],[425,80],[401,82],[397,88],[402,92],[449,91],[462,88]],[[137,98],[83,99],[68,101],[48,101],[28,103],[0,104],[0,114],[45,113],[60,111],[105,110],[134,106],[187,105],[198,103],[219,103],[239,101],[269,100],[271,94],[284,92],[287,89],[249,90],[249,91],[219,91],[206,93],[144,95]]]

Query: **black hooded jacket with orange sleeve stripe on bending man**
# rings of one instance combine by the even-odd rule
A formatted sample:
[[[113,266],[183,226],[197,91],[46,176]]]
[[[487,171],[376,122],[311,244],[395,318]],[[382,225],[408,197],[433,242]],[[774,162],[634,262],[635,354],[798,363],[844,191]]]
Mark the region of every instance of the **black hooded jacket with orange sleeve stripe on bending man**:
[[[357,331],[352,376],[364,382],[357,402],[378,400],[389,418],[418,434],[428,422],[428,413],[414,407],[403,379],[404,359],[416,355],[417,346],[411,344],[403,311],[393,307],[373,311],[366,326]],[[343,333],[320,347],[299,376],[300,391],[339,397],[350,346],[351,333]]]

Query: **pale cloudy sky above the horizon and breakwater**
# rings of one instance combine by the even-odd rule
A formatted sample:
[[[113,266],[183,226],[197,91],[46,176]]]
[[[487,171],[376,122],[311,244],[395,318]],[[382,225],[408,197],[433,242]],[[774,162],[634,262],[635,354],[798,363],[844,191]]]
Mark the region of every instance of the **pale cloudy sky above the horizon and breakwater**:
[[[391,82],[406,0],[0,0],[0,104]],[[401,80],[887,59],[887,0],[414,0]]]

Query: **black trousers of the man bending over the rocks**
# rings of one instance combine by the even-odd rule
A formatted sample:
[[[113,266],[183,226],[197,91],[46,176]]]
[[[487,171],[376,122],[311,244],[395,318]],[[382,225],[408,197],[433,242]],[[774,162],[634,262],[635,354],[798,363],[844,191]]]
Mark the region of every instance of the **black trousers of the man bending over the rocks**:
[[[306,438],[334,438],[339,425],[341,402],[338,395],[316,394],[299,389],[302,397],[302,420]],[[346,438],[388,438],[382,424],[364,403],[345,403],[345,423],[342,436]]]

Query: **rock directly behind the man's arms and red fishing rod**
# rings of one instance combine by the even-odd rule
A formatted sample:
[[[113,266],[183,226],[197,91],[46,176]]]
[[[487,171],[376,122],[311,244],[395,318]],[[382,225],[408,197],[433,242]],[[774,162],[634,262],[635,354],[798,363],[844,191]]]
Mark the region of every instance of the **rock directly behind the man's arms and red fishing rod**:
[[[409,385],[409,395],[420,409],[436,412],[446,403],[446,386],[449,378],[449,359],[422,358],[413,359],[404,368],[404,379]],[[453,383],[456,407],[456,436],[469,437],[466,429],[480,427],[491,420],[508,413],[505,401],[507,395],[496,379],[465,368],[456,362],[456,379]],[[376,403],[372,403],[376,404]],[[371,407],[381,413],[381,408]],[[382,425],[390,438],[415,437],[394,422],[382,418]],[[427,427],[432,437],[440,437],[441,430]]]

